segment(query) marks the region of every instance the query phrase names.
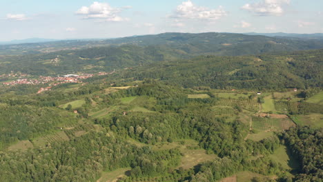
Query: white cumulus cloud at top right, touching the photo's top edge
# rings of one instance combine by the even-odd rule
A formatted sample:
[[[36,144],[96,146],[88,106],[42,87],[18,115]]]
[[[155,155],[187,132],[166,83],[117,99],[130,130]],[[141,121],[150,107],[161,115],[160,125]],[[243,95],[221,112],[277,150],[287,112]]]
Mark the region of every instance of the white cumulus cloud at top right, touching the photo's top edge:
[[[263,0],[258,3],[246,3],[242,9],[258,16],[281,16],[284,6],[290,2],[291,0]]]

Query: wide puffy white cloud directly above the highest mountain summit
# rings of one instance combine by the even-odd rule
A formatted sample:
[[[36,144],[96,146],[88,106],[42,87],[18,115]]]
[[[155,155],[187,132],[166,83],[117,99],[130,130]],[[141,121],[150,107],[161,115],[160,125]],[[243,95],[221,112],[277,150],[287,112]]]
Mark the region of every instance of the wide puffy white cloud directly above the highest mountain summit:
[[[172,18],[175,19],[200,19],[200,20],[216,20],[226,16],[226,11],[219,6],[218,9],[209,10],[203,6],[195,6],[192,1],[184,1],[177,6],[175,14]]]

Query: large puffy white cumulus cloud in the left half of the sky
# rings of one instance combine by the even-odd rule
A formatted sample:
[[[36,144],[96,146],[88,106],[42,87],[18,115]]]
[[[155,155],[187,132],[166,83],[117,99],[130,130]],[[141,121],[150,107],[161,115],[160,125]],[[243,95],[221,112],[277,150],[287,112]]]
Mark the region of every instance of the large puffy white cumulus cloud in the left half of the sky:
[[[127,18],[119,17],[119,13],[124,9],[129,9],[130,6],[124,8],[113,8],[108,3],[94,2],[90,6],[82,6],[75,12],[84,19],[105,19],[106,21],[127,21]]]

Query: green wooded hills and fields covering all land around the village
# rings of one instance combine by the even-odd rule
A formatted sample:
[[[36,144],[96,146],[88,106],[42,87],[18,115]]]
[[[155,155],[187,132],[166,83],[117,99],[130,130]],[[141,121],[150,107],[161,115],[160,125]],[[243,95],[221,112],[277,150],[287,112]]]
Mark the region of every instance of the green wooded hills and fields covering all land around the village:
[[[23,56],[8,45],[0,181],[322,181],[323,51],[311,41],[169,33],[44,43],[79,46],[50,53],[20,45],[34,51]],[[2,84],[22,79],[15,72],[112,70]]]

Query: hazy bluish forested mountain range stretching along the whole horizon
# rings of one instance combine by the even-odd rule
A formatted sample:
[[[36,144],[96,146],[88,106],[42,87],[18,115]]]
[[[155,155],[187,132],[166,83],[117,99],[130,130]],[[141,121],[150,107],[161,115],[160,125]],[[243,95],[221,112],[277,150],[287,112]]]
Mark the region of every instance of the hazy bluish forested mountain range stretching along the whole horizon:
[[[289,39],[288,37],[266,37],[262,35],[217,32],[198,34],[170,32],[117,39],[81,39],[47,43],[0,45],[0,53],[34,54],[41,52],[55,52],[58,50],[125,44],[140,46],[166,45],[173,49],[183,50],[189,54],[216,54],[223,56],[323,48],[322,39]]]

